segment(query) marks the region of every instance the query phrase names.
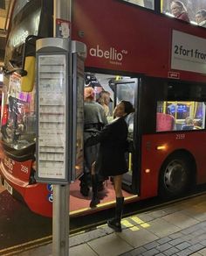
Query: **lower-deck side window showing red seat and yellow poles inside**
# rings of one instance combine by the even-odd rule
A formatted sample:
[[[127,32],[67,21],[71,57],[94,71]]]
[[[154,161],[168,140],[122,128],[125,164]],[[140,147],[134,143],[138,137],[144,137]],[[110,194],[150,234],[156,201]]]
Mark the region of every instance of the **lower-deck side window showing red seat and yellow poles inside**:
[[[156,132],[205,128],[205,103],[157,102]]]

